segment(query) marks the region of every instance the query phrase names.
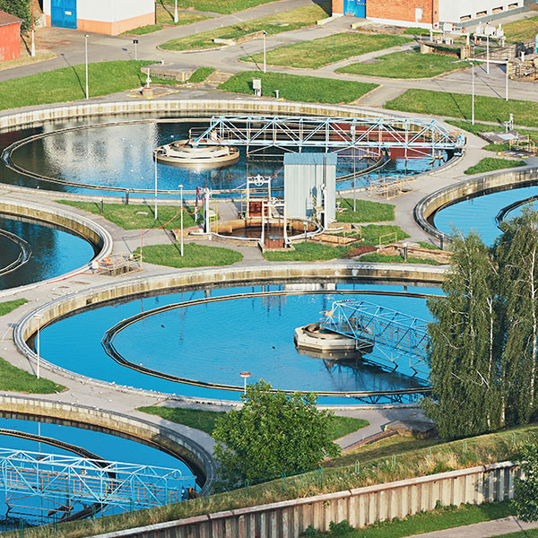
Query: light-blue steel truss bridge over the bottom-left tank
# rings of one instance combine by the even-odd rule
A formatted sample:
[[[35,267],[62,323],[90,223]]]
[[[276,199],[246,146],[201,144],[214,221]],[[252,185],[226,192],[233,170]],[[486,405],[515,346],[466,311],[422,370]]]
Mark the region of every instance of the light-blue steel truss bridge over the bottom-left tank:
[[[77,502],[99,507],[94,512],[151,508],[185,499],[188,488],[195,488],[195,476],[177,469],[0,448],[0,490],[8,506],[45,510],[39,516],[67,516]],[[49,506],[36,508],[33,497]]]

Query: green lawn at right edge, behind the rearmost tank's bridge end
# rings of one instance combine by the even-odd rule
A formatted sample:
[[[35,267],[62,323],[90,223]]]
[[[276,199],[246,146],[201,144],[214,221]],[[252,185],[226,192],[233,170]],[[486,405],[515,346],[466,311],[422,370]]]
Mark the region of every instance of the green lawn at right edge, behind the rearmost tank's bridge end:
[[[408,90],[395,100],[385,104],[391,110],[419,112],[435,116],[471,118],[472,97],[466,93],[447,91]],[[521,126],[538,126],[538,103],[525,100],[508,100],[496,97],[474,98],[474,117],[477,120],[502,124],[514,114],[514,123]]]

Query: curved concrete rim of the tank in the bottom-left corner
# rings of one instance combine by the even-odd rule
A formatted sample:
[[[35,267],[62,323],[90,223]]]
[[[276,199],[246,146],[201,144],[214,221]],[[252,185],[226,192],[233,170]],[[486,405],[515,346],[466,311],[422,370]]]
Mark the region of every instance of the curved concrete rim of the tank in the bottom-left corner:
[[[214,479],[213,459],[203,447],[176,431],[149,421],[143,421],[143,419],[86,405],[15,395],[0,395],[0,411],[82,422],[151,441],[153,444],[171,450],[185,460],[196,476],[200,478],[201,483],[205,482],[204,487],[209,487]]]

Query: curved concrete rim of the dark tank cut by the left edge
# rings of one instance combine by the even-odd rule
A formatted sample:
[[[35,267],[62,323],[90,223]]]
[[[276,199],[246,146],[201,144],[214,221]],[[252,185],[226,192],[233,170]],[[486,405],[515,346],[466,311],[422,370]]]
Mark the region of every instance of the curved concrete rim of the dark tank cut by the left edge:
[[[34,215],[35,216],[32,216]],[[75,274],[82,273],[88,269],[91,269],[91,261],[108,256],[112,252],[113,241],[112,237],[100,224],[91,221],[82,215],[65,211],[64,209],[46,207],[44,205],[34,204],[33,202],[27,202],[22,200],[2,200],[0,201],[0,214],[24,216],[29,217],[35,221],[44,221],[53,223],[60,228],[67,230],[67,232],[74,233],[82,239],[85,239],[91,243],[94,250],[100,248],[99,252],[91,257],[91,260],[85,265],[82,265],[78,269],[74,269],[69,273],[60,274],[49,278],[45,281],[32,282],[16,288],[9,288],[7,290],[0,291],[0,297],[7,295],[13,295],[21,291],[32,290],[39,285],[49,282],[56,282],[65,280]],[[61,223],[59,223],[61,222]],[[78,228],[78,230],[77,230]],[[84,237],[86,236],[86,237]]]

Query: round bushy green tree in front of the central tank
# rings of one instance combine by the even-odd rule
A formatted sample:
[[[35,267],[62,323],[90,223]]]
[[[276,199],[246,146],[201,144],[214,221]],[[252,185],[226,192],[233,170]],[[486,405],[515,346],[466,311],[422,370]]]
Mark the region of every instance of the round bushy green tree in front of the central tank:
[[[310,471],[340,453],[329,436],[333,413],[317,409],[314,393],[273,392],[260,379],[241,399],[242,409],[220,417],[213,430],[214,458],[228,487]]]

